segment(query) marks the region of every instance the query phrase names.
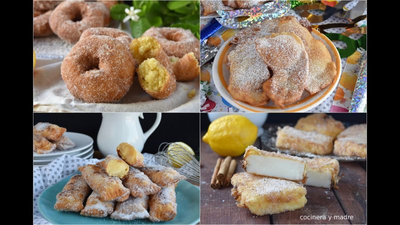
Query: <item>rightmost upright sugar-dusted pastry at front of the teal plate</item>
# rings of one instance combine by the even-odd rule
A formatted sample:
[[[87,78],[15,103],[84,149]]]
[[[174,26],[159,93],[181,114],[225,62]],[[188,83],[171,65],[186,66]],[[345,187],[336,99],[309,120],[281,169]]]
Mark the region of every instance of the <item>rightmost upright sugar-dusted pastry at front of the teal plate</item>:
[[[153,222],[169,221],[176,215],[175,186],[166,186],[160,192],[150,195],[148,217]]]

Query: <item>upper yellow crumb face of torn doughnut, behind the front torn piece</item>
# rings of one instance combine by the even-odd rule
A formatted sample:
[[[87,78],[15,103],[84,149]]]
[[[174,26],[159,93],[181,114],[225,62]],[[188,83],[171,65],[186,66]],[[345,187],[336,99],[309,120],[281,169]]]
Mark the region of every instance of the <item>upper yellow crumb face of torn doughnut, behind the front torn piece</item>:
[[[158,40],[152,36],[142,36],[133,39],[129,45],[130,53],[137,63],[141,63],[147,58],[155,57],[160,50],[161,45]]]

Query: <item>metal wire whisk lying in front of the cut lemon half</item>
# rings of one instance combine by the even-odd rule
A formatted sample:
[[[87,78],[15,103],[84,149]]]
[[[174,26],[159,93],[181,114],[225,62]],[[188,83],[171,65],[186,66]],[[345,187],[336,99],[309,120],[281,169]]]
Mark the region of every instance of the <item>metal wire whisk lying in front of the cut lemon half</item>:
[[[173,148],[168,150],[168,147]],[[200,183],[200,163],[177,143],[163,142],[158,146],[158,152],[153,155],[155,162],[175,169],[181,175],[187,177],[194,184]]]

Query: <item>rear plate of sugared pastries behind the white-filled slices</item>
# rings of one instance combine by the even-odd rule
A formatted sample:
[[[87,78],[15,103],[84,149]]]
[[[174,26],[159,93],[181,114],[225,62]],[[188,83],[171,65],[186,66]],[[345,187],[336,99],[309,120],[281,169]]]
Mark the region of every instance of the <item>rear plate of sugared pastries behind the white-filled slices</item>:
[[[301,157],[366,161],[366,123],[347,124],[325,113],[313,113],[296,124],[269,126],[261,135],[268,150]]]

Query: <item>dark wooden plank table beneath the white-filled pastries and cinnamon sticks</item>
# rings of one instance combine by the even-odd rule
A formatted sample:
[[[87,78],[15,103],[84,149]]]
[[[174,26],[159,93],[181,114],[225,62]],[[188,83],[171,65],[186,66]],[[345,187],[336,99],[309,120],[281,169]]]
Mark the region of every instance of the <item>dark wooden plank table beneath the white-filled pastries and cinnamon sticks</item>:
[[[201,136],[204,132],[201,133]],[[257,138],[254,146],[261,148]],[[218,155],[208,144],[200,146],[200,221],[201,224],[364,224],[366,223],[366,170],[358,162],[340,162],[339,189],[306,186],[307,203],[301,209],[273,215],[257,216],[246,208],[239,208],[230,195],[232,186],[213,190],[210,180]],[[239,163],[242,156],[235,157],[235,172],[243,172]],[[334,219],[333,216],[353,215],[353,219]],[[300,216],[319,215],[326,219],[300,219]],[[328,220],[328,216],[331,219]]]

